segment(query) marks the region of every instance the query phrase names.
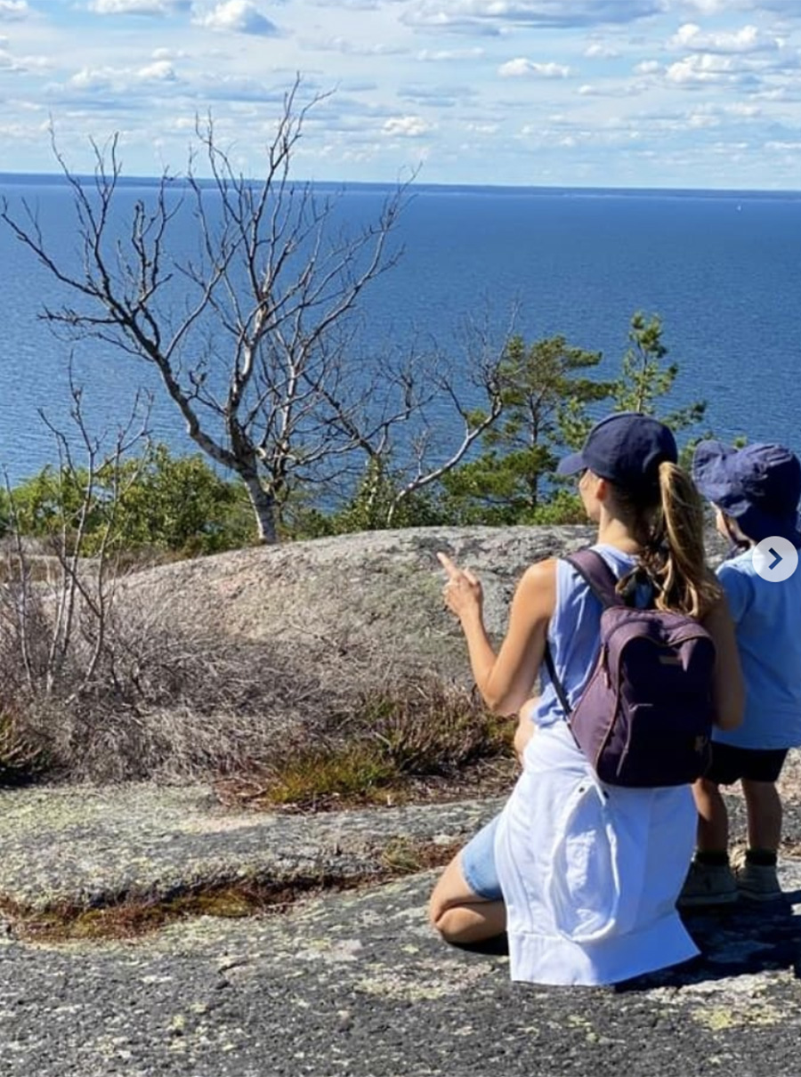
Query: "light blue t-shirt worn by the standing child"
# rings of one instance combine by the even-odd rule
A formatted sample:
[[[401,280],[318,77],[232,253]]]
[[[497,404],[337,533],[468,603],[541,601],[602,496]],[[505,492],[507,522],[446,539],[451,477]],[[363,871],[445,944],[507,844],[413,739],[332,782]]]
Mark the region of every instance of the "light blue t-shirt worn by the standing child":
[[[713,739],[747,749],[801,744],[801,567],[771,583],[754,568],[753,550],[717,570],[734,620],[745,679],[745,716]]]

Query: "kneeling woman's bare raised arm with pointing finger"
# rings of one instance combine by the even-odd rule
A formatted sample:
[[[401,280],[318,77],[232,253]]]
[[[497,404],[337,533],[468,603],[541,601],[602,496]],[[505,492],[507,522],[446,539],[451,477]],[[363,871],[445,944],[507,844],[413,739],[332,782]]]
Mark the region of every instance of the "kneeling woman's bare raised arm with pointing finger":
[[[481,584],[445,554],[437,556],[448,573],[445,602],[462,625],[478,690],[490,710],[514,714],[531,696],[543,660],[548,621],[557,604],[557,562],[539,561],[523,574],[496,655],[483,624]]]

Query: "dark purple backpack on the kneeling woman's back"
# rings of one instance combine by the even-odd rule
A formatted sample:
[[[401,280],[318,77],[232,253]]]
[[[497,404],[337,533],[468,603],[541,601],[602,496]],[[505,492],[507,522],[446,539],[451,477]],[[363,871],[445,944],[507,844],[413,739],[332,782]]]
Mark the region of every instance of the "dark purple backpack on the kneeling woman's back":
[[[600,554],[565,560],[601,602],[601,651],[571,709],[553,659],[545,662],[576,743],[602,782],[685,785],[709,765],[715,644],[692,617],[627,605]]]

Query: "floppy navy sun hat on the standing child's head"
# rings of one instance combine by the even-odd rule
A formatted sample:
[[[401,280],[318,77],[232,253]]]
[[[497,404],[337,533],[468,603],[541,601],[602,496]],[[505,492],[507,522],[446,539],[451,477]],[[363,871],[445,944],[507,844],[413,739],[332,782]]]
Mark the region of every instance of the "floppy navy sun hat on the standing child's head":
[[[692,477],[701,493],[736,520],[753,542],[779,535],[801,546],[801,462],[783,445],[732,449],[721,442],[701,442]]]

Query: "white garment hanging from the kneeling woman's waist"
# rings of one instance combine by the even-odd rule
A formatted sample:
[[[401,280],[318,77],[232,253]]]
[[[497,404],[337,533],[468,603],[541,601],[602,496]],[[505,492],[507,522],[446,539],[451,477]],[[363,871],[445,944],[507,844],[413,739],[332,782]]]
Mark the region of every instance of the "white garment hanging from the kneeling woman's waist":
[[[564,723],[537,729],[495,836],[512,980],[616,983],[699,951],[676,912],[689,786],[602,785]]]

